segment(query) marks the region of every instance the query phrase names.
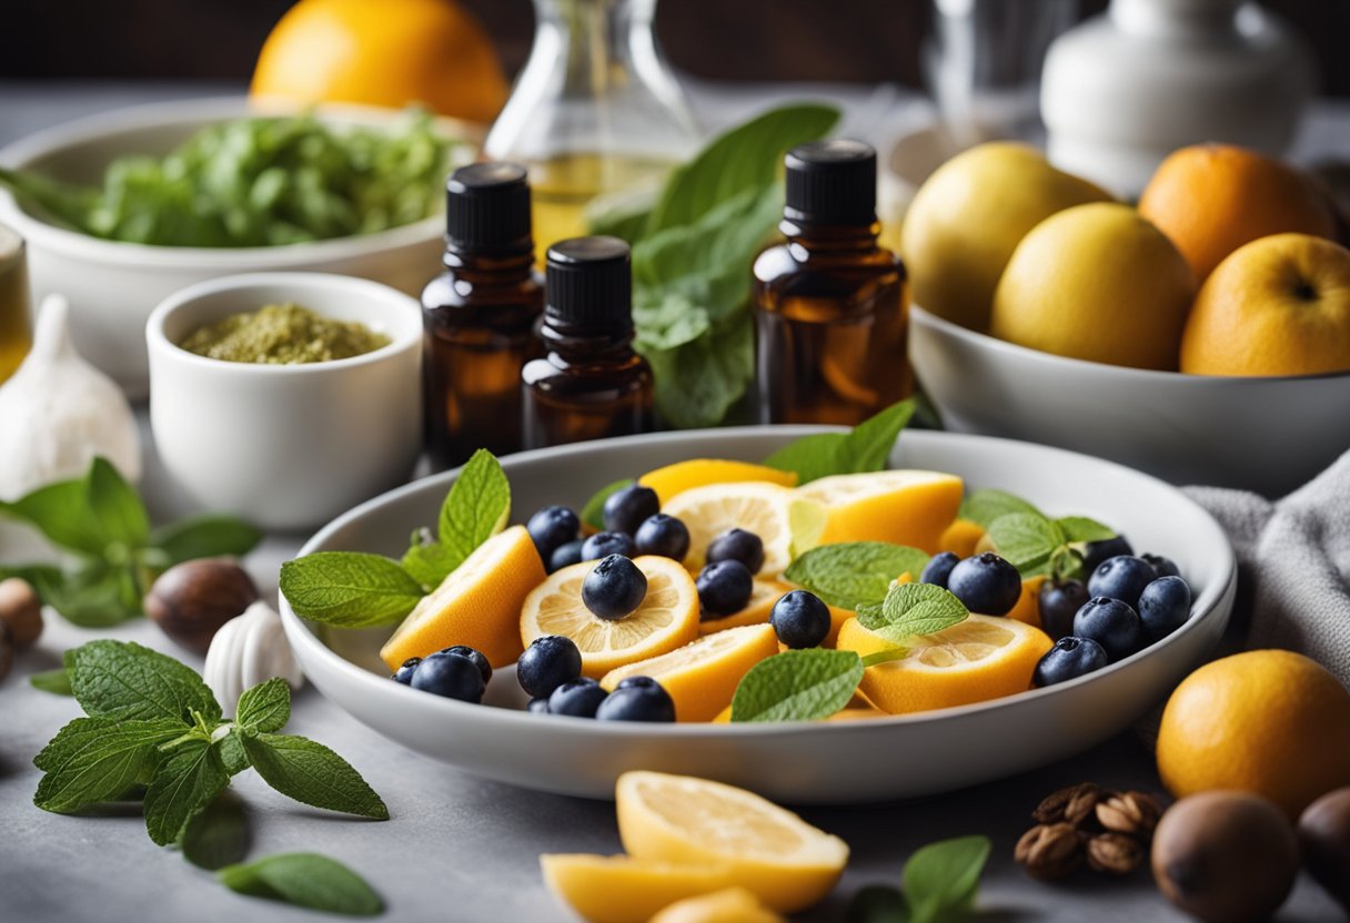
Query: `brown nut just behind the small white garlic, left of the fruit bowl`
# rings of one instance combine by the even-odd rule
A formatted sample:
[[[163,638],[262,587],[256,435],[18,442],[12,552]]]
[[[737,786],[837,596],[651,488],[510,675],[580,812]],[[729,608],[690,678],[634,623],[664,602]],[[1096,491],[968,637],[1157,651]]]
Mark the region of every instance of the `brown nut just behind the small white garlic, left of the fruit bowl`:
[[[165,634],[205,653],[220,626],[258,599],[258,587],[242,567],[220,559],[174,564],[146,596],[146,615]]]

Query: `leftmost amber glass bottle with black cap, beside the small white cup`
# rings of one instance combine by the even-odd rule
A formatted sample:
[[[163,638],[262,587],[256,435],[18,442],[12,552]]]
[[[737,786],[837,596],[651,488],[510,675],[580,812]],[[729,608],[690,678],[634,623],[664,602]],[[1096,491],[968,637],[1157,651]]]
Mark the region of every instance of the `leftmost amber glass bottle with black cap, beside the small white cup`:
[[[446,271],[423,290],[427,444],[432,466],[478,448],[518,452],[520,370],[543,349],[535,324],[529,185],[513,163],[474,163],[446,184]]]

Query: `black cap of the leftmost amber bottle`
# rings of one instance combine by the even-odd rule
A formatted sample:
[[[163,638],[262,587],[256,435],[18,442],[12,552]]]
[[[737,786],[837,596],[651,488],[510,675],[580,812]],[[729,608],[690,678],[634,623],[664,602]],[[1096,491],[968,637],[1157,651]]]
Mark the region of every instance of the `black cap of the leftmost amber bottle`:
[[[463,254],[529,254],[529,184],[516,163],[471,163],[446,181],[446,242]]]

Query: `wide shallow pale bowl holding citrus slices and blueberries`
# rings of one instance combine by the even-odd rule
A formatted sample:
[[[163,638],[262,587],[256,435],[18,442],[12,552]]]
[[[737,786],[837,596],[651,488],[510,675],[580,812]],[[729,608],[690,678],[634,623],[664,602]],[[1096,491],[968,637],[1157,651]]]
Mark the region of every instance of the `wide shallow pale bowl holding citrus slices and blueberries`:
[[[761,460],[810,426],[662,433],[583,443],[502,459],[517,520],[545,503],[687,457]],[[1139,549],[1177,561],[1196,591],[1191,621],[1162,642],[1089,676],[981,704],[855,722],[628,725],[532,715],[513,669],[498,669],[485,707],[389,680],[378,659],[392,629],[316,627],[281,600],[292,648],[319,690],[386,737],[468,772],[567,795],[613,798],[628,769],[691,773],[795,804],[867,803],[973,785],[1066,757],[1119,733],[1160,702],[1223,632],[1237,569],[1219,525],[1176,488],[1061,449],[911,432],[895,467],[952,471],[968,487],[1003,487],[1049,513],[1114,524]],[[397,556],[435,522],[455,472],[401,487],[310,538],[301,553]]]

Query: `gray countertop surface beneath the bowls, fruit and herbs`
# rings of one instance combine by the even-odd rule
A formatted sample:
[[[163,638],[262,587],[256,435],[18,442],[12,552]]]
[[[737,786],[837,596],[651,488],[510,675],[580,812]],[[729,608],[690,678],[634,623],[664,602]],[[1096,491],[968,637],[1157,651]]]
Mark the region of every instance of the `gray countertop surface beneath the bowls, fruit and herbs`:
[[[0,82],[0,144],[90,111],[151,99],[219,93],[220,86],[36,85]],[[780,88],[774,88],[780,89]],[[813,88],[818,89],[818,88]],[[710,123],[724,123],[763,105],[765,88],[695,88]],[[922,107],[895,90],[829,88],[860,121],[887,113],[914,117]],[[818,94],[818,93],[817,93]],[[1305,154],[1346,150],[1350,109],[1319,109],[1301,144]],[[153,506],[171,503],[150,464]],[[298,537],[274,536],[256,552],[251,569],[274,584],[279,560]],[[93,637],[134,640],[178,656],[146,622],[111,632],[84,632],[57,618],[35,649],[23,653],[0,686],[0,919],[32,923],[84,920],[255,923],[312,920],[308,911],[240,897],[144,835],[139,810],[109,808],[99,816],[46,814],[31,803],[39,773],[32,756],[78,714],[72,699],[39,692],[30,673],[59,663],[61,652]],[[252,856],[315,850],[359,870],[386,899],[390,920],[567,920],[543,887],[539,854],[620,850],[613,806],[543,795],[467,776],[383,739],[313,690],[296,696],[288,730],[319,739],[346,756],[383,796],[393,819],[374,823],[313,811],[277,795],[252,772],[234,787],[248,806]],[[922,758],[922,754],[915,754]],[[771,766],[764,768],[772,772]],[[1033,773],[923,802],[857,808],[806,810],[803,816],[842,837],[852,860],[832,897],[803,920],[840,920],[861,887],[896,883],[900,866],[923,843],[983,833],[994,839],[984,874],[979,919],[1100,923],[1185,919],[1157,893],[1146,872],[1122,880],[1087,873],[1048,887],[1029,880],[1013,862],[1013,845],[1030,824],[1029,812],[1052,789],[1084,780],[1104,785],[1160,789],[1152,756],[1123,735],[1073,760]],[[1287,923],[1335,920],[1338,911],[1305,877],[1277,918]]]

